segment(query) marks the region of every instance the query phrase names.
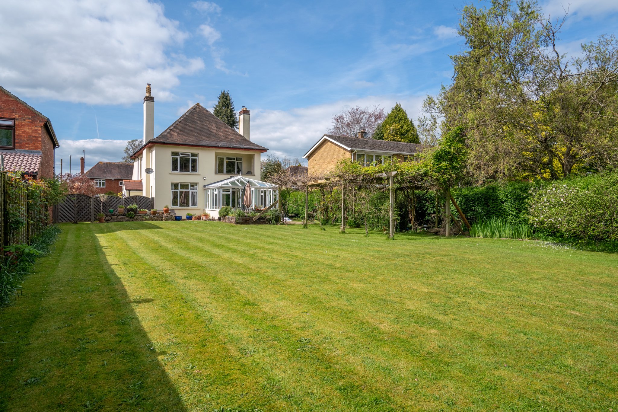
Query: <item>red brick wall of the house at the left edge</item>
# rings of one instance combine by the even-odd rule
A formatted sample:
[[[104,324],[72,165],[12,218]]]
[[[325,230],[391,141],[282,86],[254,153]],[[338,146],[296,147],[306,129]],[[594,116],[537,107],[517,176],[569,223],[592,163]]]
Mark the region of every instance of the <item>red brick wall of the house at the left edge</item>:
[[[40,177],[54,176],[54,144],[44,124],[46,119],[0,91],[0,117],[15,119],[15,149],[40,150]]]

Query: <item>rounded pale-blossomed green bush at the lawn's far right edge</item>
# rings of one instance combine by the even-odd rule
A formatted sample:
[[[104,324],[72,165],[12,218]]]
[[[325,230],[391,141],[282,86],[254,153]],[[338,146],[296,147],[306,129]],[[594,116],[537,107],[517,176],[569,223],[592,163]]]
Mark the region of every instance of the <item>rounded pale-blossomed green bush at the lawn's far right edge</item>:
[[[544,235],[618,240],[618,173],[546,183],[530,198],[530,222]]]

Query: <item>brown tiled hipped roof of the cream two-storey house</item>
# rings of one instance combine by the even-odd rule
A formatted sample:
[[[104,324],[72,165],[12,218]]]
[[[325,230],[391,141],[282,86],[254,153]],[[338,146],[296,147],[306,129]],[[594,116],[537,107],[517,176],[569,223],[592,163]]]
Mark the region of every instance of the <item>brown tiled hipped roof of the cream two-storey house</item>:
[[[196,103],[160,135],[153,143],[179,143],[193,146],[268,150],[256,145],[222,122],[200,103]]]

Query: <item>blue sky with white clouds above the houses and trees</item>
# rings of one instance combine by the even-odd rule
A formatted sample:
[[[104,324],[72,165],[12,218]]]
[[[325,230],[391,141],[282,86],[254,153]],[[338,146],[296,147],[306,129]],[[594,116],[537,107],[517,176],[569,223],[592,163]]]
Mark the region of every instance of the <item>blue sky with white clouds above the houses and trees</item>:
[[[155,135],[229,90],[251,110],[252,140],[300,157],[347,106],[399,101],[416,119],[450,81],[465,3],[7,0],[0,85],[52,120],[58,164],[82,149],[89,166],[119,160],[142,137],[146,82]],[[618,26],[618,1],[541,2],[552,15],[563,5],[566,53]]]

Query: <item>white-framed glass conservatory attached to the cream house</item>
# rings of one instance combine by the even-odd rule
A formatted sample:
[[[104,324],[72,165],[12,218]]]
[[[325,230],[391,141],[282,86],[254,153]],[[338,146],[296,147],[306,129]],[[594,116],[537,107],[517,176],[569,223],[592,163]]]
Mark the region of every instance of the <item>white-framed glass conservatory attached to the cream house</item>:
[[[251,204],[245,204],[247,183],[251,188]],[[208,183],[208,185],[204,185],[206,191],[205,209],[213,217],[218,217],[219,209],[223,206],[241,209],[265,209],[277,201],[278,188],[277,185],[272,183],[261,182],[242,175]]]

